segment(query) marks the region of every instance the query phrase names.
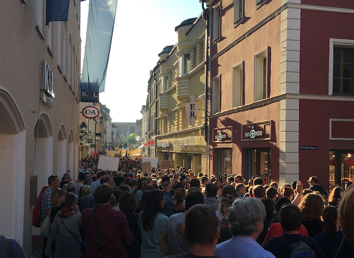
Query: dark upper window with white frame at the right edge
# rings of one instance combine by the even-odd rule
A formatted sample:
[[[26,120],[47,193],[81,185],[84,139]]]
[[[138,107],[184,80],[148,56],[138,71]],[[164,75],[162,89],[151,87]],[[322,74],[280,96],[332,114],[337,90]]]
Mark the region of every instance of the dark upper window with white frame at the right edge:
[[[354,95],[354,49],[333,48],[333,94]]]

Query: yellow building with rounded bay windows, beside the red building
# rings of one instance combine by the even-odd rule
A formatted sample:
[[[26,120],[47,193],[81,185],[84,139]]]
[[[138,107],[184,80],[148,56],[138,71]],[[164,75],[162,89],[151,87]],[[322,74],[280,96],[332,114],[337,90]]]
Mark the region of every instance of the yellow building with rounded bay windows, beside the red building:
[[[158,160],[174,160],[206,174],[204,129],[205,103],[205,20],[200,15],[175,27],[178,42],[159,54],[154,69],[157,88],[155,148]],[[187,121],[186,107],[194,96],[199,105],[196,121]]]

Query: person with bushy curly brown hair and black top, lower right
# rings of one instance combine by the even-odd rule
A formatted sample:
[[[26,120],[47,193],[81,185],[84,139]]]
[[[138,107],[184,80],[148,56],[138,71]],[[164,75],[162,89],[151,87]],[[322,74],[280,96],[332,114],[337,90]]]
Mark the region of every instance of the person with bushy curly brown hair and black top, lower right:
[[[325,203],[321,195],[316,193],[306,194],[299,204],[303,216],[302,224],[306,227],[310,237],[323,231],[321,216],[324,207]]]

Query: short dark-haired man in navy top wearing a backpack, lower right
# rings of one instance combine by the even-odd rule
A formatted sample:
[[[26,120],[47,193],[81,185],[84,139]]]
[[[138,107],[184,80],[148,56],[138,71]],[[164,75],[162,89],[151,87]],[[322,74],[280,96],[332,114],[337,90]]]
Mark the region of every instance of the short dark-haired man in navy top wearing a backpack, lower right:
[[[313,254],[315,256],[312,257],[324,257],[320,244],[314,238],[299,234],[302,214],[297,206],[293,204],[283,205],[279,212],[279,220],[282,235],[270,239],[264,247],[265,250],[270,251],[276,258],[286,258],[290,257],[290,254],[295,249],[292,244],[301,241],[306,244],[301,246],[303,248],[303,255],[307,254],[305,257],[311,257],[309,255]]]

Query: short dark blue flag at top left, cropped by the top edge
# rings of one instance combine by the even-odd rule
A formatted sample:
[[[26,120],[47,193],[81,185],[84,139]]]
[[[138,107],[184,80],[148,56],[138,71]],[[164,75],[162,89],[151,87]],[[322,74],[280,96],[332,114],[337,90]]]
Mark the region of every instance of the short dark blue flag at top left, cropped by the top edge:
[[[67,21],[70,0],[47,0],[46,26],[51,21]]]

